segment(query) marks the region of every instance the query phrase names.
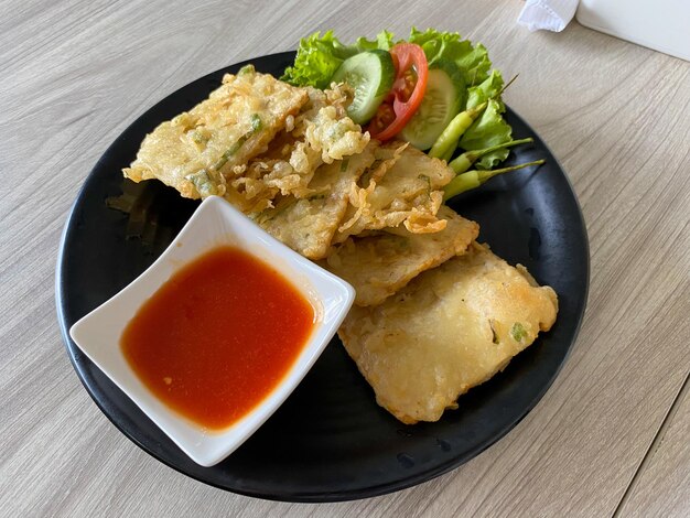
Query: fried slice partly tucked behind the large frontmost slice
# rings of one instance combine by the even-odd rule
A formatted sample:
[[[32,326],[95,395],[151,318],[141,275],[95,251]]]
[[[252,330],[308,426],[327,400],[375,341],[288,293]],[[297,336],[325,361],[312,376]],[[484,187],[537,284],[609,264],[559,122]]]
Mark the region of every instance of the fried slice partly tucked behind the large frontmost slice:
[[[380,304],[422,271],[464,253],[479,234],[476,223],[445,205],[436,216],[446,220],[441,231],[412,234],[400,227],[349,237],[322,266],[355,288],[355,304]]]

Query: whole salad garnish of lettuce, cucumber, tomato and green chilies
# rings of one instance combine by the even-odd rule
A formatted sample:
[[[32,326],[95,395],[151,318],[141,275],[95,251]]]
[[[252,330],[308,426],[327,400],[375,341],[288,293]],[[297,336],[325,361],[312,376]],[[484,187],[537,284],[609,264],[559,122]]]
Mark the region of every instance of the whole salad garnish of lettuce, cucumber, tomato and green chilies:
[[[486,47],[459,33],[412,28],[407,40],[397,40],[381,31],[346,45],[333,31],[316,32],[301,40],[281,79],[322,89],[348,84],[354,90],[348,116],[371,138],[402,139],[449,163],[457,176],[446,198],[535,164],[494,170],[509,148],[531,139],[514,140],[503,117],[502,94],[515,78],[504,85]],[[467,171],[473,165],[476,171]]]

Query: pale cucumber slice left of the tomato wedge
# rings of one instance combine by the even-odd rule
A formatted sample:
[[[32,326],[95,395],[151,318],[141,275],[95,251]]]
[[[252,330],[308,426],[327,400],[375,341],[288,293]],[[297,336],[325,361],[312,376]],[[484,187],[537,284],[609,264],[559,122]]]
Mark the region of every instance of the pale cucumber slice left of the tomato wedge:
[[[371,120],[395,79],[392,57],[387,51],[375,50],[345,60],[331,80],[347,83],[355,90],[347,115],[356,123],[363,125]]]

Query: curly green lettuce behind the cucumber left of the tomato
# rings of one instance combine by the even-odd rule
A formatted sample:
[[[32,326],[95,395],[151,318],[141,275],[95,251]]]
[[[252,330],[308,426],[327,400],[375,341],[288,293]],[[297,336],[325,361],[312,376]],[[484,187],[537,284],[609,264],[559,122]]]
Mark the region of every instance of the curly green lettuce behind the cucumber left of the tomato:
[[[359,37],[354,45],[344,45],[335,37],[333,31],[323,36],[315,32],[300,40],[294,65],[285,68],[281,80],[293,86],[313,86],[325,89],[331,86],[331,77],[341,64],[351,56],[373,48],[390,50],[393,45],[392,33],[380,32],[376,40]]]

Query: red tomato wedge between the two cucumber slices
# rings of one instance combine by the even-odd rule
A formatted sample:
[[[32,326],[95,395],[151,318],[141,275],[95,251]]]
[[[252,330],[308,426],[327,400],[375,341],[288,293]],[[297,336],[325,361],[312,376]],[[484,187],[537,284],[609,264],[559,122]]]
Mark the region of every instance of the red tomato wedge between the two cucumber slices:
[[[389,97],[379,106],[367,130],[371,138],[386,141],[402,131],[424,98],[429,64],[421,46],[399,43],[390,50],[396,80]]]

